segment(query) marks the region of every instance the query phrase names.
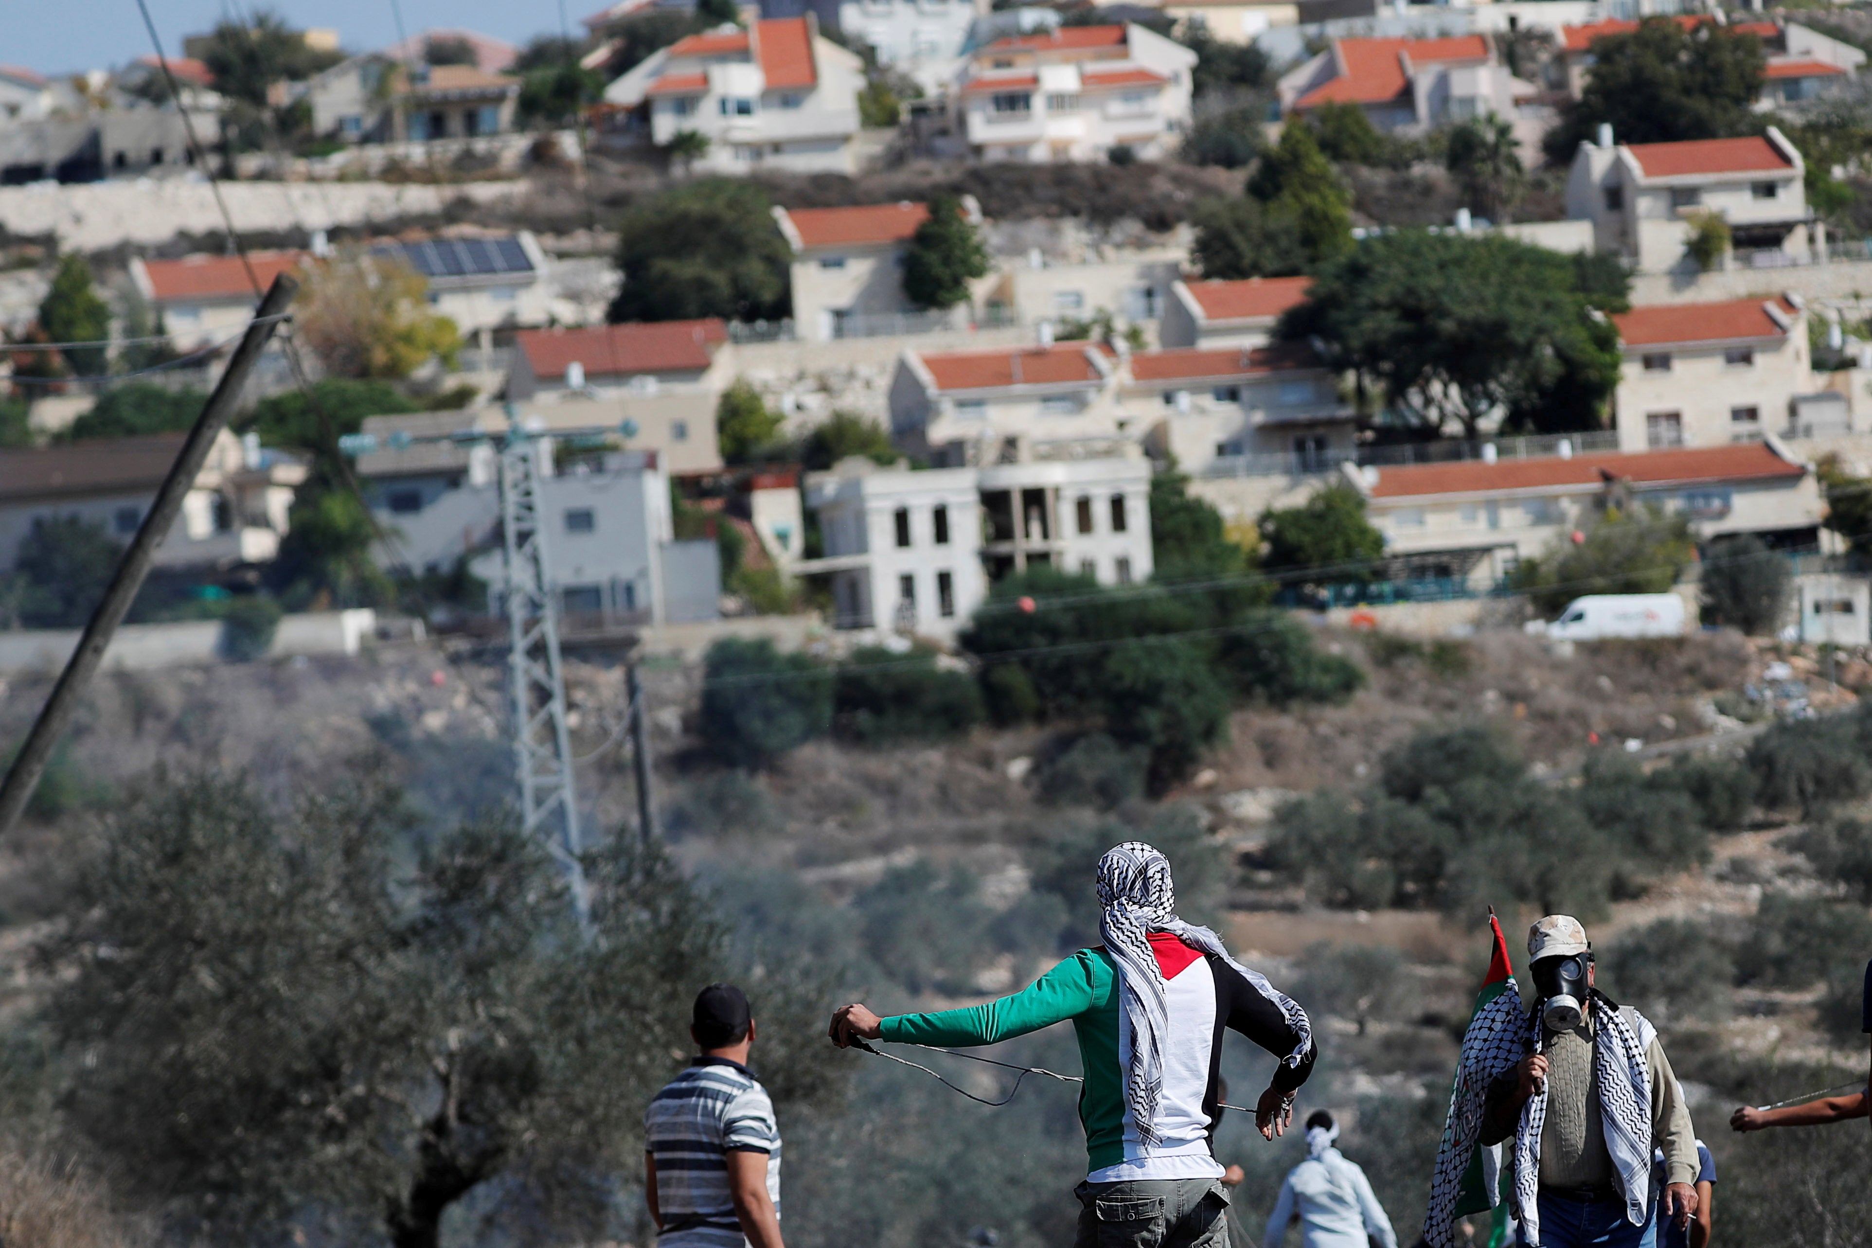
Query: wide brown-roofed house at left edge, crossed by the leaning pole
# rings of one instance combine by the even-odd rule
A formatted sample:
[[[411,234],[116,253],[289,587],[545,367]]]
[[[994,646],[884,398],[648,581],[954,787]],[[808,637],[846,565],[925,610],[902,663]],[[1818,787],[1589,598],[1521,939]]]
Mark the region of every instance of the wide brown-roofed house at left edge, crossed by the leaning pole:
[[[183,434],[99,438],[0,451],[0,574],[41,520],[77,518],[127,543],[182,453]],[[305,464],[260,445],[258,434],[215,436],[182,496],[182,513],[155,548],[155,573],[227,576],[270,563],[286,535]]]

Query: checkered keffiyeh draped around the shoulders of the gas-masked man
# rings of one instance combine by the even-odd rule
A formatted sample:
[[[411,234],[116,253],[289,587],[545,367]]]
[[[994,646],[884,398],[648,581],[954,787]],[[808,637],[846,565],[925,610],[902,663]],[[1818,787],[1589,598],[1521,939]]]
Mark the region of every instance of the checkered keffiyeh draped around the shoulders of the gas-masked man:
[[[1599,1106],[1612,1156],[1612,1169],[1625,1196],[1625,1216],[1632,1226],[1644,1226],[1651,1199],[1651,1065],[1645,1050],[1657,1029],[1644,1014],[1617,1009],[1608,997],[1593,994],[1595,1042],[1593,1063],[1599,1067]],[[1430,1248],[1451,1248],[1455,1242],[1455,1205],[1462,1177],[1475,1153],[1483,1128],[1483,1100],[1488,1083],[1528,1053],[1541,1052],[1541,1016],[1522,1016],[1520,992],[1514,982],[1483,1007],[1462,1037],[1462,1055],[1456,1067],[1456,1087],[1449,1098],[1449,1119],[1443,1143],[1436,1153],[1436,1173],[1430,1179],[1430,1209],[1425,1212],[1423,1237]],[[1546,1126],[1546,1089],[1528,1100],[1514,1128],[1514,1216],[1520,1218],[1526,1242],[1541,1242],[1541,1128]],[[1488,1201],[1498,1201],[1496,1149],[1483,1151],[1483,1177]]]

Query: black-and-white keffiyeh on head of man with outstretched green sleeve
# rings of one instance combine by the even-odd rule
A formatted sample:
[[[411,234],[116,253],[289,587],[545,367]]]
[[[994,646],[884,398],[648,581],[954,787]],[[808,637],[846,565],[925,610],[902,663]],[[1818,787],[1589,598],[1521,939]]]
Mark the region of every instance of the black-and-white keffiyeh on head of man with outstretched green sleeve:
[[[1157,1143],[1157,1102],[1164,1083],[1164,1035],[1170,1010],[1163,969],[1151,954],[1149,934],[1170,932],[1191,949],[1215,954],[1245,980],[1280,1007],[1299,1042],[1282,1061],[1297,1067],[1312,1048],[1312,1025],[1299,1003],[1279,992],[1267,979],[1236,962],[1222,937],[1209,928],[1176,917],[1176,885],[1170,859],[1142,840],[1127,840],[1099,859],[1099,934],[1118,964],[1123,1010],[1131,1023],[1131,1070],[1125,1076],[1125,1102],[1144,1147]]]

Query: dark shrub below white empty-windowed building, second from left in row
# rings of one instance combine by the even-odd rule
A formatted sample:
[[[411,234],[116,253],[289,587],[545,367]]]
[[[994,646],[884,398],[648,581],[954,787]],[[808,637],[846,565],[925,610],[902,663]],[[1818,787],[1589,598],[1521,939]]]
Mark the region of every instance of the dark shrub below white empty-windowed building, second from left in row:
[[[930,649],[908,655],[859,649],[833,679],[833,730],[848,741],[936,741],[962,735],[981,720],[975,677],[943,672]]]

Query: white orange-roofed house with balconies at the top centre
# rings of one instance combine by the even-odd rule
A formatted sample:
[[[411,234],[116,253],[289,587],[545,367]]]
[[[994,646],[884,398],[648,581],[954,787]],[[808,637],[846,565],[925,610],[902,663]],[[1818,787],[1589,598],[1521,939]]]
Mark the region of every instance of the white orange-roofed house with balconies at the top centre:
[[[1138,24],[1061,26],[977,49],[953,90],[970,152],[985,161],[1170,155],[1191,125],[1196,54]]]

